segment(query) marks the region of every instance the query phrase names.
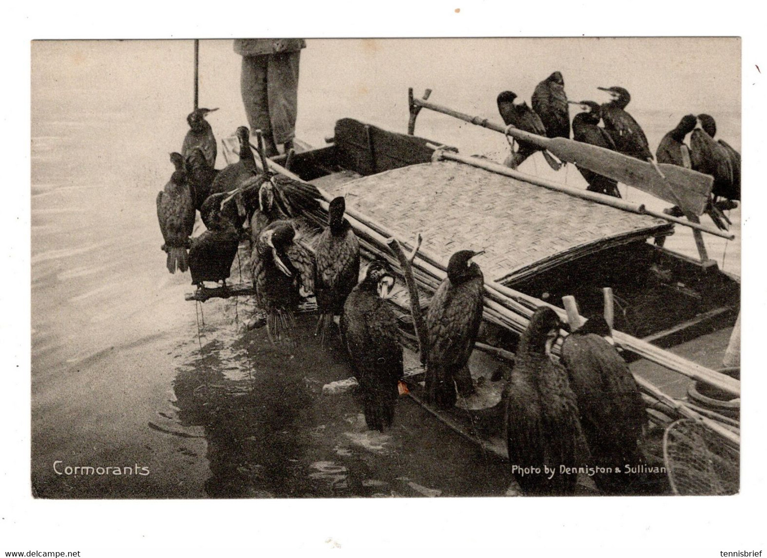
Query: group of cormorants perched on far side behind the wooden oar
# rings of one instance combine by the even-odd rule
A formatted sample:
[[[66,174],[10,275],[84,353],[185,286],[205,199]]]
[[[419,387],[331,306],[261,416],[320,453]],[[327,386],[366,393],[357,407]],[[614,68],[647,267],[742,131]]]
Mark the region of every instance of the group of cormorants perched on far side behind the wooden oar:
[[[683,117],[680,124],[660,140],[653,158],[644,130],[626,111],[631,101],[629,92],[617,86],[597,89],[607,91],[612,97],[611,101],[601,105],[594,101],[568,101],[565,80],[561,72],[555,71],[535,87],[532,107],[528,107],[524,101],[522,104],[514,104],[517,94],[503,91],[497,97],[498,111],[506,125],[545,137],[569,139],[571,127],[568,104],[579,105],[582,112],[572,119],[572,139],[650,163],[670,163],[713,176],[712,199],[707,213],[717,226],[724,228],[723,221],[726,219],[720,211],[732,209],[737,206],[734,202],[740,200],[740,154],[725,141],[713,140],[716,135],[713,117],[709,114],[699,114],[697,117],[688,114]],[[600,121],[602,126],[599,125]],[[700,127],[697,127],[699,122]],[[684,143],[687,134],[691,134],[689,147]],[[517,167],[535,151],[542,150],[524,141],[518,144],[518,149],[512,151],[507,161],[510,167]],[[549,165],[558,170],[560,163],[545,150],[543,153]],[[582,167],[578,167],[578,170],[588,182],[588,190],[621,197],[615,180]],[[678,207],[671,208],[669,213],[682,215]]]

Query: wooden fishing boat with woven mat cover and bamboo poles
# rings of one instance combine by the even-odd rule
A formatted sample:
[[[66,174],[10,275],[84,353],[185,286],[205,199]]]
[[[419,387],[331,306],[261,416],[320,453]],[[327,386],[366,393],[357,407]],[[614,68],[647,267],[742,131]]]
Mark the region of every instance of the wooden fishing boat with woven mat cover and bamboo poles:
[[[410,132],[417,115],[413,108],[411,95]],[[475,124],[490,127],[486,121]],[[608,174],[610,165],[620,167],[621,160],[610,157],[607,163],[597,160],[595,170]],[[459,399],[450,411],[429,410],[487,451],[506,453],[502,389],[532,311],[551,305],[577,326],[582,315],[601,314],[606,300],[615,342],[624,358],[634,362],[632,370],[644,392],[648,414],[660,427],[649,453],[663,458],[660,436],[677,419],[703,425],[713,439],[729,448],[730,456],[738,451],[737,418],[686,401],[678,389],[662,389],[659,380],[681,375],[739,398],[739,380],[673,352],[706,335],[718,335],[726,345],[739,315],[738,277],[718,269],[704,252],[698,261],[663,247],[663,239],[677,226],[691,226],[696,240],[702,233],[727,234],[694,219],[694,213],[700,214],[695,209],[700,193],[694,188],[689,198],[693,218],[683,221],[623,200],[547,183],[480,157],[464,157],[436,141],[349,118],[337,121],[328,145],[274,157],[267,164],[317,186],[325,211],[332,198],[344,196],[347,218],[360,238],[364,259],[388,259],[404,274],[407,266],[401,265],[390,240],[397,239],[404,249],[414,251],[412,270],[421,309],[428,306],[445,276],[449,256],[458,249],[485,251],[476,259],[486,277],[485,313],[476,345],[479,350],[469,362],[479,395]],[[616,172],[626,176],[632,167],[647,166],[649,170],[641,167],[636,173],[636,183],[640,187],[642,176],[653,176],[649,189],[660,188],[648,163],[634,160],[627,165],[629,170]],[[705,183],[698,177],[690,180],[695,188]],[[668,184],[661,183],[663,188]],[[686,193],[672,195],[678,201]],[[703,210],[702,206],[697,209]],[[307,217],[319,225],[327,219],[322,212]],[[416,234],[423,238],[417,250]],[[611,289],[612,296],[606,298],[605,288]],[[242,285],[187,298],[249,292],[250,287]],[[405,281],[398,282],[390,302],[410,349],[406,360],[410,395],[424,404],[418,332],[411,316],[413,294]],[[577,300],[581,315],[572,305],[565,309],[565,297]],[[728,463],[734,466],[737,490],[737,464],[732,457]],[[732,491],[732,482],[727,486],[725,491]]]

